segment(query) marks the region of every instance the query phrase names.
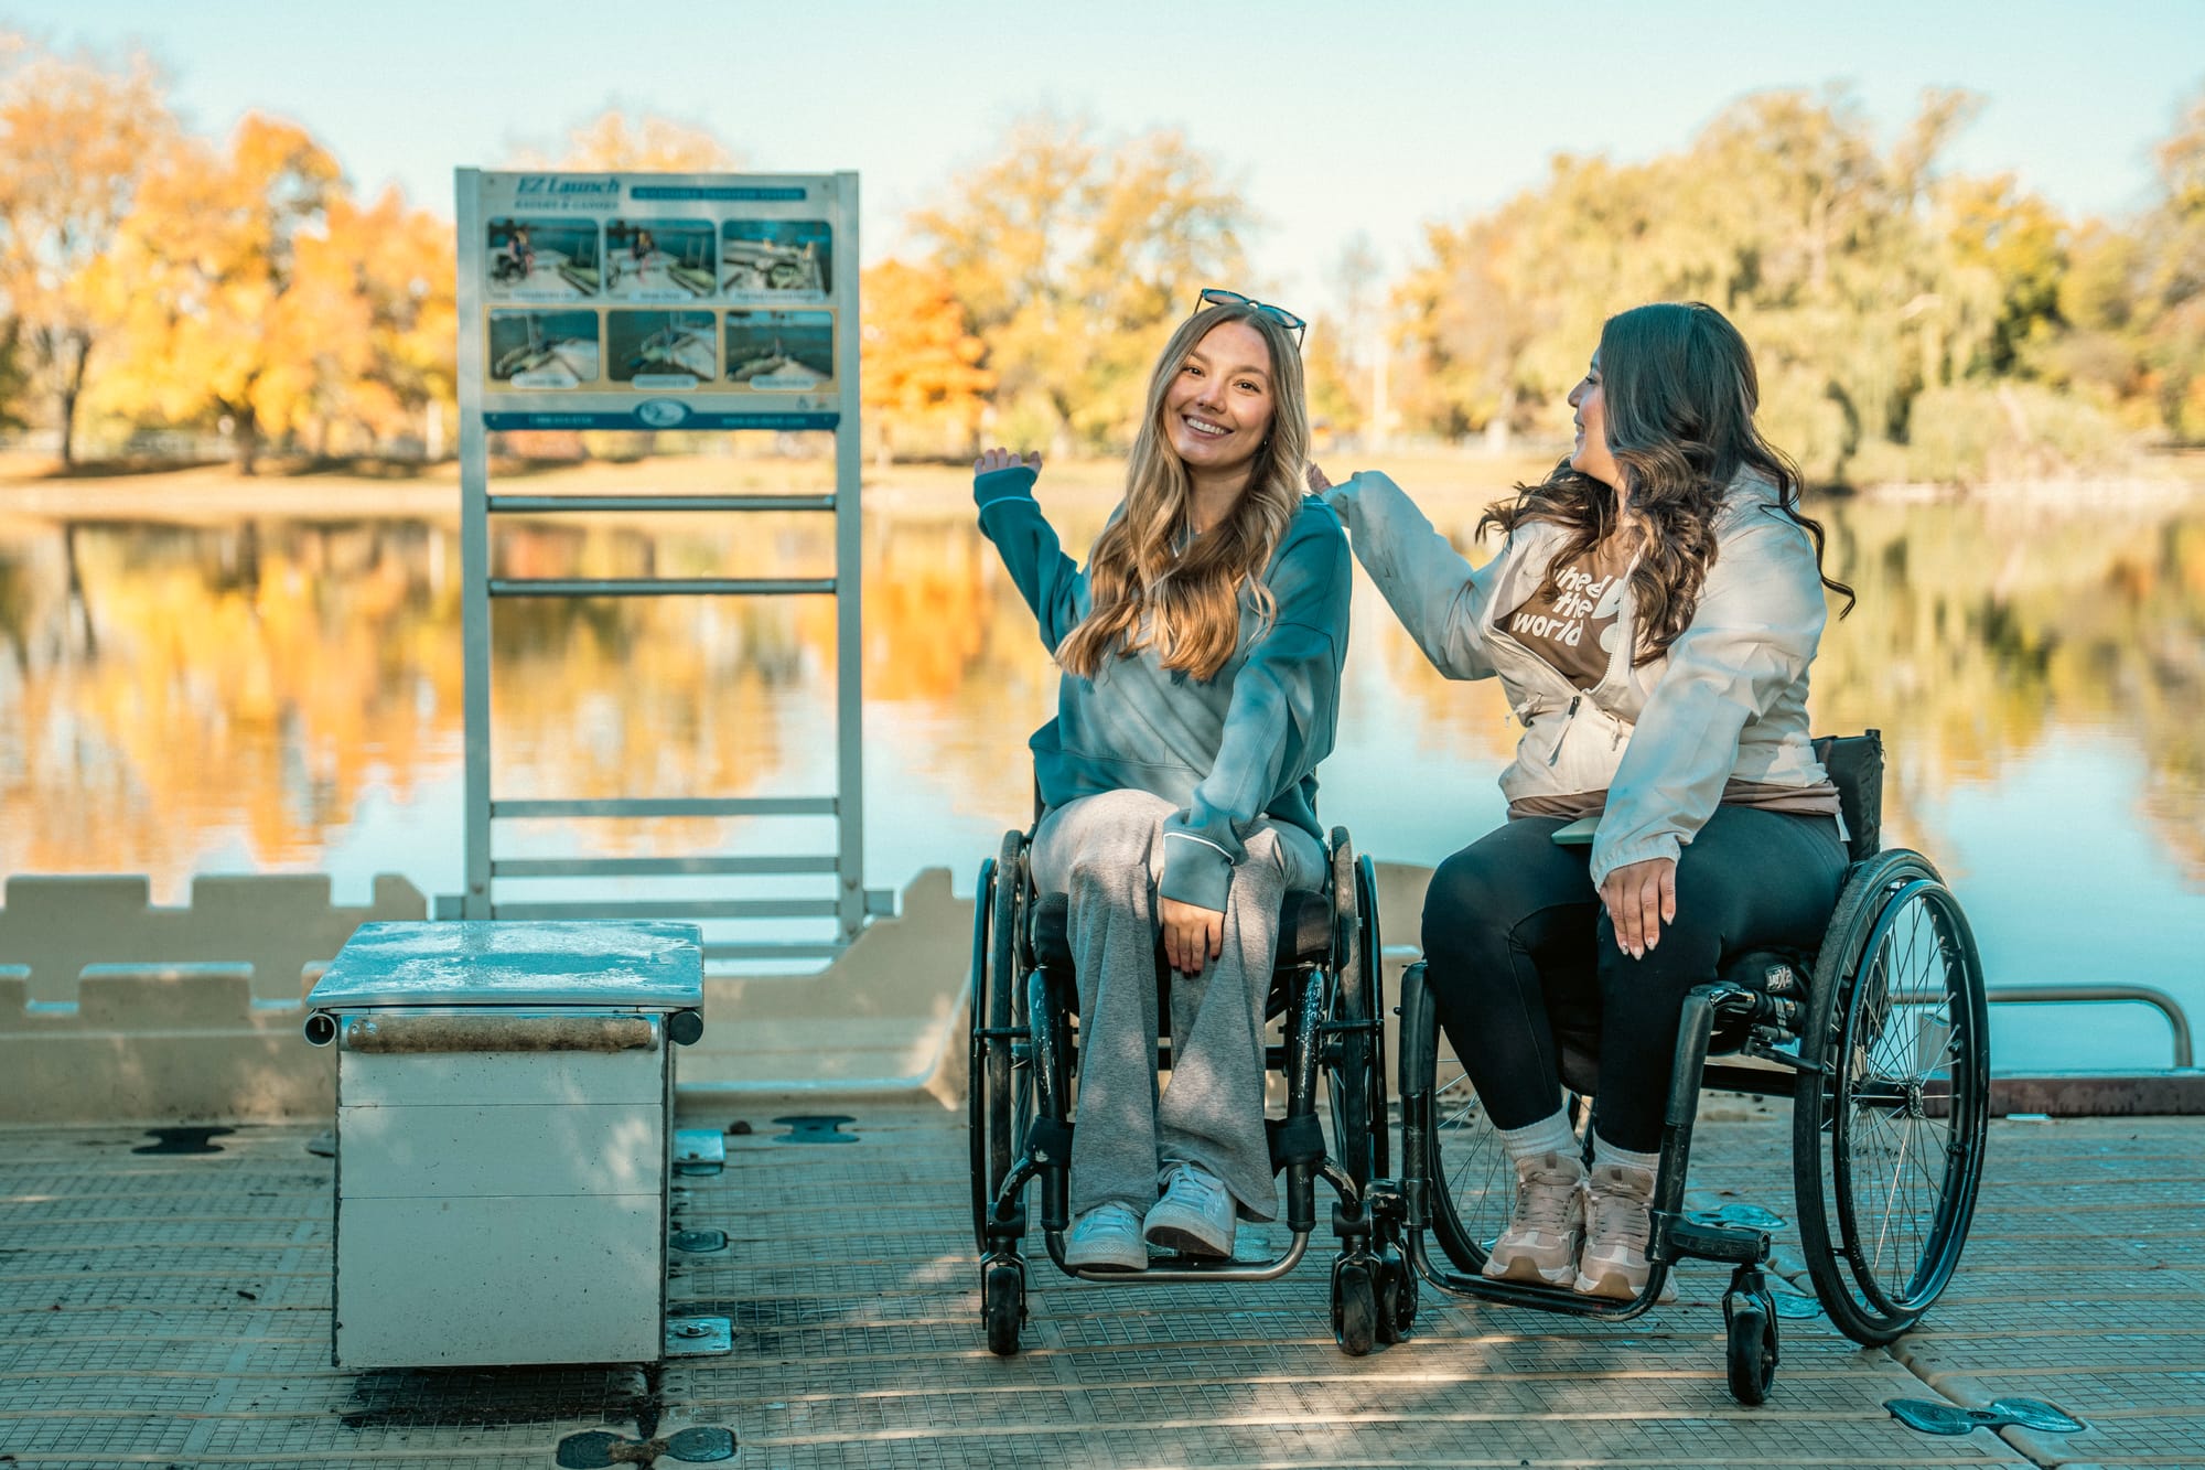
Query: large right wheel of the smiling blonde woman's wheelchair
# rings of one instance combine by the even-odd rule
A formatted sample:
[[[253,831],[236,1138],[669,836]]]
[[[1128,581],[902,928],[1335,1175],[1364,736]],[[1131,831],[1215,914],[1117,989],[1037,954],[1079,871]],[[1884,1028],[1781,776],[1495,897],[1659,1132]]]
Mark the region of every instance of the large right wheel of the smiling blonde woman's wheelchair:
[[[1376,894],[1369,859],[1356,861],[1347,832],[1332,830],[1332,987],[1323,1042],[1332,1148],[1356,1187],[1387,1172],[1385,1026],[1378,971]]]

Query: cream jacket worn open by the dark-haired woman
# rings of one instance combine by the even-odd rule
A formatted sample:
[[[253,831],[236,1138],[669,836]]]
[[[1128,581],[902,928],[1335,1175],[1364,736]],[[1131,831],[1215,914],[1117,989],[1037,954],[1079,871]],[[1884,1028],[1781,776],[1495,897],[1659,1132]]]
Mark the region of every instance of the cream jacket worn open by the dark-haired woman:
[[[1828,616],[1815,543],[1766,481],[1731,481],[1691,625],[1636,669],[1636,605],[1625,583],[1607,673],[1585,693],[1499,627],[1539,587],[1563,528],[1519,525],[1493,561],[1471,569],[1385,475],[1356,475],[1325,499],[1433,669],[1451,680],[1499,678],[1524,724],[1502,792],[1515,801],[1607,790],[1592,839],[1594,883],[1627,863],[1674,861],[1731,777],[1826,779],[1806,726],[1806,671]]]

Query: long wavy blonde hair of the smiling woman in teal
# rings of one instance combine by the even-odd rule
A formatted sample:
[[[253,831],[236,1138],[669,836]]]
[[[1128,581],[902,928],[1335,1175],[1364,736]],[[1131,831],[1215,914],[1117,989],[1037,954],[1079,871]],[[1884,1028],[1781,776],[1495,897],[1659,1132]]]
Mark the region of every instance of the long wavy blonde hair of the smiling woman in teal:
[[[1246,322],[1270,349],[1270,433],[1248,466],[1248,488],[1213,530],[1188,539],[1193,477],[1164,430],[1164,393],[1195,344],[1224,322]],[[1166,669],[1215,678],[1239,647],[1241,596],[1277,614],[1263,567],[1301,510],[1310,406],[1301,353],[1286,327],[1241,305],[1186,318],[1149,377],[1149,406],[1125,472],[1125,503],[1087,558],[1087,618],[1065,633],[1056,662],[1094,678],[1105,656],[1155,647]]]

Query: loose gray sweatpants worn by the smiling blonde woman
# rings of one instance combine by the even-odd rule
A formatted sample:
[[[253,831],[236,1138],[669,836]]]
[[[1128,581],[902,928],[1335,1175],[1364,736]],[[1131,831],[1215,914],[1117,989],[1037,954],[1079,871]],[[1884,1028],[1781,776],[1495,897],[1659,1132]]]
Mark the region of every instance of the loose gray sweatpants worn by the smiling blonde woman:
[[[1034,832],[1034,885],[1072,898],[1080,984],[1080,1097],[1072,1214],[1122,1201],[1147,1214],[1158,1174],[1200,1163],[1241,1214],[1268,1221],[1279,1190],[1263,1137],[1263,995],[1279,898],[1321,887],[1325,854],[1301,828],[1257,821],[1233,867],[1219,954],[1171,978],[1171,1084],[1155,1088],[1155,883],[1175,808],[1144,790],[1080,797]]]

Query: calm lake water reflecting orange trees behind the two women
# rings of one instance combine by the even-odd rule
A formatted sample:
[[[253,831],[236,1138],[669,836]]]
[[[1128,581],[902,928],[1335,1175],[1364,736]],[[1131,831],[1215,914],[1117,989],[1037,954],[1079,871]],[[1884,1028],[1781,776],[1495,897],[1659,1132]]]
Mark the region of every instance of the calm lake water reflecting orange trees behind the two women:
[[[1462,477],[1469,479],[1469,477]],[[1424,490],[1469,545],[1488,488]],[[875,494],[875,505],[919,497]],[[1050,501],[1085,547],[1100,497]],[[1817,728],[1879,726],[1885,841],[1960,892],[1993,984],[2141,982],[2205,1024],[2205,503],[1824,503],[1861,592]],[[688,523],[684,523],[688,521]],[[822,516],[507,525],[512,576],[831,569]],[[1360,576],[1360,574],[1358,574]],[[867,881],[979,861],[1030,812],[1054,700],[964,503],[875,508],[864,550]],[[1502,819],[1491,686],[1446,684],[1358,580],[1323,814],[1435,863]],[[498,797],[807,795],[833,781],[818,598],[501,603]],[[461,883],[456,516],[66,523],[0,512],[0,874],[377,872]],[[822,850],[825,823],[501,823],[501,852]],[[1413,940],[1413,914],[1387,914]],[[2163,1066],[2137,1006],[2002,1009],[2011,1066]]]

